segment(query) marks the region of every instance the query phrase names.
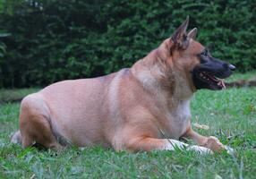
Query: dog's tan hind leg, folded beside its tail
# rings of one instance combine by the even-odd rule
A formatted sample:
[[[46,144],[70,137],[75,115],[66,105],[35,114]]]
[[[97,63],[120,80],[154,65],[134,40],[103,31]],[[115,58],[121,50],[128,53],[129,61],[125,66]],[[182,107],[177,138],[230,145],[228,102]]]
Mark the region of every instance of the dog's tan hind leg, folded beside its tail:
[[[24,98],[21,102],[20,130],[23,148],[35,143],[47,149],[62,149],[56,141],[49,123],[49,110],[43,98],[37,94]]]

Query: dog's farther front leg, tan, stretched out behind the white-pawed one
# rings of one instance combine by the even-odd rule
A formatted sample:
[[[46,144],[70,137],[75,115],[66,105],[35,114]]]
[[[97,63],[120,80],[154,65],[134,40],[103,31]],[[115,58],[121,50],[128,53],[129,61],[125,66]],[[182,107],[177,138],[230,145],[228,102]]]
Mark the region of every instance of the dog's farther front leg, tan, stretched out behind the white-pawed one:
[[[209,148],[213,151],[221,151],[225,149],[225,145],[223,145],[216,137],[209,136],[205,137],[201,134],[194,132],[192,128],[189,128],[182,137],[190,138],[196,143],[198,143],[200,146]]]

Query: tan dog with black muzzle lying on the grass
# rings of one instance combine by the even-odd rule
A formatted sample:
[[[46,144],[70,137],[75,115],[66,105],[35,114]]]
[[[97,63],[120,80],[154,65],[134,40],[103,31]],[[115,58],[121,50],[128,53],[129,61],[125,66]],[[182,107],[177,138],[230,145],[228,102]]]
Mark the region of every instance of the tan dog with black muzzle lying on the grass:
[[[100,145],[128,151],[194,150],[226,147],[192,130],[190,102],[200,89],[222,90],[235,70],[209,54],[186,33],[189,18],[158,48],[132,65],[106,76],[56,82],[21,101],[20,131],[11,141],[23,148]],[[192,139],[188,145],[180,138]]]

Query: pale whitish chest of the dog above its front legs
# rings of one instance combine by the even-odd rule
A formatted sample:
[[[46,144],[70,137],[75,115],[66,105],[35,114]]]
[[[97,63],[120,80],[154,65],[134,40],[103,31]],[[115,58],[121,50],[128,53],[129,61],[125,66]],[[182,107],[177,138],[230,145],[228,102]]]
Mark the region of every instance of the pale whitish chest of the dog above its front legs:
[[[168,137],[172,139],[180,138],[190,124],[190,100],[178,101],[178,105],[167,113],[166,118],[168,121]]]

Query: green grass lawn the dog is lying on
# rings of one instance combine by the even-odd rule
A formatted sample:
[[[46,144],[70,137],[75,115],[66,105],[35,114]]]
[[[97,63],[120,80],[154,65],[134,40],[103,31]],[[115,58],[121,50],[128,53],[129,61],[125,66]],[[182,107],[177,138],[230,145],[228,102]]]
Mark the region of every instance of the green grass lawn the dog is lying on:
[[[235,74],[232,80],[255,75],[256,72]],[[0,100],[8,91],[0,90]],[[19,91],[15,94],[22,96],[34,89],[23,90],[22,94]],[[10,134],[18,129],[20,104],[3,101],[0,103],[0,178],[256,177],[256,88],[200,90],[192,100],[192,123],[209,125],[207,131],[194,130],[218,137],[235,149],[235,155],[223,152],[200,156],[178,150],[128,153],[100,147],[66,149],[60,153],[21,149],[9,142]]]

